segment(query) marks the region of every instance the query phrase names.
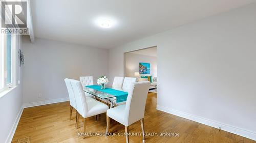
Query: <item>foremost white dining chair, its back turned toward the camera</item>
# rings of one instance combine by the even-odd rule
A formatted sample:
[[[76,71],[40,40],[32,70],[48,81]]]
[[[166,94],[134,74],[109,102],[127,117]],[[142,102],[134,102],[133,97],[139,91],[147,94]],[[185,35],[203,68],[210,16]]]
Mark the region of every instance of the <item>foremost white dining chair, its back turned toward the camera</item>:
[[[124,125],[126,142],[129,142],[128,127],[140,120],[142,136],[143,140],[145,140],[144,112],[149,88],[150,81],[131,83],[126,104],[110,108],[106,111],[106,135],[109,132],[111,118]]]

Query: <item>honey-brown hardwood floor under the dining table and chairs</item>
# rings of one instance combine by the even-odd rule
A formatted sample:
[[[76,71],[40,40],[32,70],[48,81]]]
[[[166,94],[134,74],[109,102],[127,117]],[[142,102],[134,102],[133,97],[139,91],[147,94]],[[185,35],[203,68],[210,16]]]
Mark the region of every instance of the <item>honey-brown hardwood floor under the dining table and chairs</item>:
[[[173,132],[180,136],[146,136],[145,142],[237,142],[256,143],[256,141],[219,131],[200,123],[196,123],[184,118],[180,118],[163,111],[156,110],[157,95],[148,93],[144,127],[145,132]],[[70,121],[69,102],[49,104],[25,108],[20,118],[17,130],[12,142],[18,139],[30,138],[30,142],[125,142],[125,136],[90,136],[83,139],[77,136],[77,132],[82,132],[83,121],[80,118],[79,127],[75,127],[75,110],[73,110]],[[99,121],[95,117],[86,119],[87,132],[105,132],[105,113],[100,115]],[[141,132],[140,121],[129,126],[130,132]],[[123,133],[124,126],[114,120],[110,121],[110,132]],[[142,136],[130,136],[130,142],[142,142]]]

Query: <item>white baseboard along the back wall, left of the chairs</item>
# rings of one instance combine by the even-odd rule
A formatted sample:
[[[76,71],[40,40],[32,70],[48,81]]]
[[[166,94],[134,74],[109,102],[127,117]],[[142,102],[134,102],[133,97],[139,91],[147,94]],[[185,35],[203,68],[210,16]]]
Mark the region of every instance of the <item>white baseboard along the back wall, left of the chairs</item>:
[[[23,107],[28,108],[28,107],[41,106],[41,105],[47,105],[47,104],[65,102],[65,101],[69,101],[69,98],[58,98],[58,99],[50,99],[50,100],[45,100],[45,101],[24,103]]]

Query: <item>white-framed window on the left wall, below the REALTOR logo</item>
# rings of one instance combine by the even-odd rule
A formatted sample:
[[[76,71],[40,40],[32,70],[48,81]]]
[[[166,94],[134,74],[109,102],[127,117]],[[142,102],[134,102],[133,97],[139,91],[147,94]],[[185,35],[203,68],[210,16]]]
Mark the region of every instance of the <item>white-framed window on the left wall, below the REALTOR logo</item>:
[[[18,36],[0,34],[0,92],[16,85]]]

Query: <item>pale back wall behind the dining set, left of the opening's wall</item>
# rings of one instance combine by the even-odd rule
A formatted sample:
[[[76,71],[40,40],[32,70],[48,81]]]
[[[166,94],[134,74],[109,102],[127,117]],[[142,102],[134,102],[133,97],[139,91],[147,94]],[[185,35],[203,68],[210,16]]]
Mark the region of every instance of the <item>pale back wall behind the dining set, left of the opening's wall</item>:
[[[68,98],[65,78],[108,75],[108,50],[35,39],[24,39],[23,102],[62,101]],[[39,93],[42,96],[39,98]],[[45,102],[44,102],[45,103]],[[35,104],[36,105],[36,104]]]

